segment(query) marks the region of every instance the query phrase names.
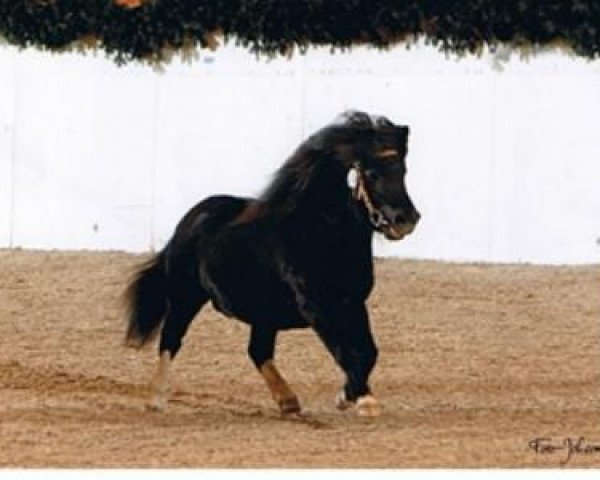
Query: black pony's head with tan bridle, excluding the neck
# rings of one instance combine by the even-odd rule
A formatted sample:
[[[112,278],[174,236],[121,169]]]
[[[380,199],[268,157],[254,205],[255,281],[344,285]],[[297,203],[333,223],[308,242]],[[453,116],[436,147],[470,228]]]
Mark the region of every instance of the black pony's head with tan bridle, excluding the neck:
[[[348,186],[364,204],[373,228],[390,240],[411,233],[421,215],[406,190],[409,128],[382,116],[340,115],[328,139],[348,172]]]

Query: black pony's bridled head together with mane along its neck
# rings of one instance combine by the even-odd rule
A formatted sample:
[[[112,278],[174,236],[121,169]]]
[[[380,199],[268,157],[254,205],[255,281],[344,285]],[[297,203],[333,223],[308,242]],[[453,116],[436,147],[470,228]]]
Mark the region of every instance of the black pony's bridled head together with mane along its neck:
[[[347,175],[353,201],[364,205],[373,229],[400,240],[420,218],[404,183],[407,141],[408,127],[385,117],[345,112],[298,147],[261,200],[272,213],[286,215],[302,204],[307,191],[326,196],[324,189],[333,188],[315,182],[323,169],[331,173],[324,176],[327,182],[335,176],[340,187]]]

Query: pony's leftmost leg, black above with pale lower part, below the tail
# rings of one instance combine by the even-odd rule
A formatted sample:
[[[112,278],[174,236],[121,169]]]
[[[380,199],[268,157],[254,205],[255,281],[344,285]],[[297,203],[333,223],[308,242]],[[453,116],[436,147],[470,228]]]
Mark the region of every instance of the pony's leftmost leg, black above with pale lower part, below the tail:
[[[151,381],[153,399],[148,405],[157,411],[167,408],[171,364],[181,348],[190,323],[208,301],[208,295],[199,286],[179,284],[169,290],[167,315],[160,335],[158,366]]]

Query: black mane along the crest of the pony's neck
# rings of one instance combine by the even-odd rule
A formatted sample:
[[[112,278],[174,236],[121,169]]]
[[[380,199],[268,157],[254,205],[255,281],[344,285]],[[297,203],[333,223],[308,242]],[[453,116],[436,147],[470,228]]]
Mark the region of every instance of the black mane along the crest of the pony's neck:
[[[363,112],[344,112],[326,127],[311,135],[279,168],[259,201],[271,213],[287,214],[295,209],[302,195],[321,168],[333,159],[340,139],[358,131],[373,131],[373,119]]]

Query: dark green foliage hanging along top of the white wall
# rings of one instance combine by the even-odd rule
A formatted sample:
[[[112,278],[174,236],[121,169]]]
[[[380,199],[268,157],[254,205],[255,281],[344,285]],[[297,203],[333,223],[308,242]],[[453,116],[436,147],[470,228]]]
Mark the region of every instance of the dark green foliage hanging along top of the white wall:
[[[560,43],[597,58],[599,30],[600,0],[0,0],[0,39],[101,48],[118,63],[160,63],[173,51],[212,48],[216,35],[264,56],[311,45],[388,48],[422,35],[456,54]]]

